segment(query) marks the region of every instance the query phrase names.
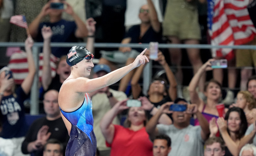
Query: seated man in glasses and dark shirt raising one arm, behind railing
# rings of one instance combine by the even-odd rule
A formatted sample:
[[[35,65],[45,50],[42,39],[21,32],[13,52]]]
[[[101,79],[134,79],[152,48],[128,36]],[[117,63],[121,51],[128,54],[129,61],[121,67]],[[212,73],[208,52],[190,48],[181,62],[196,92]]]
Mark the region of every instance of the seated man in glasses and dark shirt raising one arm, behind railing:
[[[147,4],[140,7],[138,17],[141,24],[135,25],[129,29],[125,37],[122,39],[122,44],[127,43],[149,43],[162,42],[161,23],[158,20],[157,12],[152,0],[147,0]],[[128,65],[132,63],[136,56],[141,52],[142,48],[120,47],[119,51],[107,52],[101,51],[100,64],[107,64],[112,71],[116,69],[116,63]],[[111,56],[111,57],[109,57]],[[120,81],[119,91],[126,91],[127,84],[132,78],[135,70],[124,76]]]

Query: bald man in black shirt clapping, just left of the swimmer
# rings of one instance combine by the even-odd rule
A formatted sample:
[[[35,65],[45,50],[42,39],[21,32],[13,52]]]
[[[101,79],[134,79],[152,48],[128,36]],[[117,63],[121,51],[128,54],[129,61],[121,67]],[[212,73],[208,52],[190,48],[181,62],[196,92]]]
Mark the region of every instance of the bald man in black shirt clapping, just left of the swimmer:
[[[58,97],[57,90],[49,90],[44,94],[46,116],[35,120],[30,126],[21,147],[24,154],[33,153],[35,156],[42,156],[43,147],[50,138],[59,140],[66,147],[69,135],[61,118]]]

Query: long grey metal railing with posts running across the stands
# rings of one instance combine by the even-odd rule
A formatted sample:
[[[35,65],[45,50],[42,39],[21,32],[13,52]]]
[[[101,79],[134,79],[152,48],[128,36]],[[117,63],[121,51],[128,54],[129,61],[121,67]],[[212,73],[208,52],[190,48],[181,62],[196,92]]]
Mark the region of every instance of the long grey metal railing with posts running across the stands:
[[[75,42],[75,43],[51,43],[51,47],[72,47],[74,45],[86,46],[86,43],[83,42]],[[17,47],[17,46],[24,46],[24,42],[0,42],[0,47]],[[130,44],[121,44],[121,43],[94,43],[95,48],[119,48],[129,46],[131,48],[148,48],[149,44],[142,43],[130,43]],[[33,57],[36,65],[36,69],[39,69],[39,53],[40,48],[43,47],[42,42],[35,42],[32,51]],[[219,49],[219,48],[230,48],[230,49],[253,49],[256,50],[256,45],[209,45],[209,44],[159,44],[159,48],[197,48],[197,49]],[[68,52],[67,52],[68,53]],[[152,79],[152,61],[148,63],[143,71],[143,93],[146,94],[149,83]],[[39,114],[39,75],[38,72],[36,73],[33,81],[33,85],[31,88],[31,95],[30,95],[30,114],[31,115],[38,115]]]

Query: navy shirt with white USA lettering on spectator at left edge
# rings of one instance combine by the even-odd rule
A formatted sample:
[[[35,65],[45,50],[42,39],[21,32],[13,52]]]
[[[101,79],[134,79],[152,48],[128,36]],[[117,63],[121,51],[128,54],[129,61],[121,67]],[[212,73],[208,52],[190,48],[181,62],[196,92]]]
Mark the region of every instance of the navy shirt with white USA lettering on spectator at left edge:
[[[0,120],[2,131],[0,137],[13,138],[25,136],[28,126],[25,121],[24,100],[28,97],[23,89],[19,87],[13,95],[3,96],[0,104]]]

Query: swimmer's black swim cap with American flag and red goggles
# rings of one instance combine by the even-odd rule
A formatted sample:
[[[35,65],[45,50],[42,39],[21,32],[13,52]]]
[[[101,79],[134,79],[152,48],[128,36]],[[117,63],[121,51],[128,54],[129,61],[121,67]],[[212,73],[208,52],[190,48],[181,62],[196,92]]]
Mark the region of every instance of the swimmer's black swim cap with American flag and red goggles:
[[[90,60],[94,58],[93,54],[83,46],[73,46],[67,55],[66,62],[68,65],[73,66],[83,59]]]

